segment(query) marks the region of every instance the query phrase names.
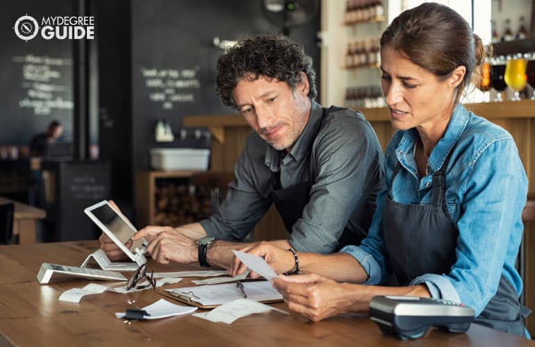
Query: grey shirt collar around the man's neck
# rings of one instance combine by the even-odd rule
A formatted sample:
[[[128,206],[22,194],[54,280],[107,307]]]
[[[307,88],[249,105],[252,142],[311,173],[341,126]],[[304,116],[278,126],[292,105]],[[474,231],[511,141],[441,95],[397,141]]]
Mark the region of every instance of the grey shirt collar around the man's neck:
[[[310,153],[315,135],[318,133],[318,129],[320,128],[323,118],[322,116],[323,109],[321,105],[312,100],[311,115],[308,118],[308,122],[306,123],[303,132],[301,135],[299,135],[299,137],[297,137],[297,141],[295,141],[292,149],[290,149],[290,152],[288,152],[288,154],[281,159],[281,152],[285,150],[277,151],[277,149],[274,149],[272,146],[268,146],[265,151],[265,165],[269,167],[271,171],[276,172],[279,171],[281,161],[283,164],[287,164],[290,162],[290,160],[302,160],[308,153]]]

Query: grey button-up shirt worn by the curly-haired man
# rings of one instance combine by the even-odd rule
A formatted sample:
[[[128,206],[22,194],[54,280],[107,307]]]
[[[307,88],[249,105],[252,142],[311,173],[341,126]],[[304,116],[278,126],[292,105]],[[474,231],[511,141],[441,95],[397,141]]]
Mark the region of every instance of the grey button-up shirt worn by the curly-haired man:
[[[217,213],[200,222],[207,235],[236,241],[249,234],[273,202],[272,176],[280,170],[282,188],[306,180],[313,183],[289,237],[297,251],[332,253],[360,243],[383,184],[381,146],[360,112],[329,112],[323,122],[322,115],[321,105],[313,101],[303,133],[283,158],[258,134],[247,136],[227,198]],[[346,227],[351,237],[339,244]]]

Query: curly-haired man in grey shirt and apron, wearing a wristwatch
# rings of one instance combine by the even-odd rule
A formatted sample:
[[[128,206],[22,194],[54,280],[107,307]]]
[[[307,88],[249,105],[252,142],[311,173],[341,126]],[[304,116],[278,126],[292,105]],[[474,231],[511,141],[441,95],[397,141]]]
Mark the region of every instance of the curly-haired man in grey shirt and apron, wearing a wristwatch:
[[[286,37],[259,35],[240,41],[217,62],[217,93],[254,129],[235,167],[220,210],[179,228],[147,226],[158,262],[231,266],[232,249],[275,204],[290,237],[279,247],[332,253],[359,244],[368,232],[381,189],[383,156],[363,115],[324,109],[312,60]],[[104,234],[101,248],[124,257]],[[288,256],[293,257],[288,252]]]

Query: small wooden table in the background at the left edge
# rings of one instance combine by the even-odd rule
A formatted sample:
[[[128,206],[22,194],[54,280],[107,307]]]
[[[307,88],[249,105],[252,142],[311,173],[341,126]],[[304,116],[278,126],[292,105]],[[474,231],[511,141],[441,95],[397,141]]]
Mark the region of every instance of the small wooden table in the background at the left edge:
[[[35,227],[38,219],[47,217],[47,212],[18,201],[0,196],[0,205],[15,204],[13,215],[13,235],[19,235],[19,244],[35,244]]]

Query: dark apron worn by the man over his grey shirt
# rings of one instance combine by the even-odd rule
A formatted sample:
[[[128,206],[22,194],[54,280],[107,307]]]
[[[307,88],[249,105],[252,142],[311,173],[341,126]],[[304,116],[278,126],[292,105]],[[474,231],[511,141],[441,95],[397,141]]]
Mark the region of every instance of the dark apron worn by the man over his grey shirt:
[[[336,106],[331,106],[331,108],[323,108],[322,119],[320,120],[320,126],[318,127],[318,132],[315,133],[314,138],[318,136],[324,120],[330,112],[336,112],[338,110],[344,110],[343,108],[338,108]],[[271,196],[273,203],[277,211],[281,215],[281,219],[286,226],[288,232],[292,232],[293,225],[297,219],[301,218],[305,205],[310,199],[310,191],[313,185],[313,168],[310,170],[310,175],[307,178],[304,178],[305,181],[302,183],[297,183],[296,185],[291,185],[290,187],[282,188],[281,186],[281,171],[274,172],[272,176],[272,191]],[[347,244],[352,244],[350,240],[354,239],[354,232],[347,228],[344,228],[342,235],[338,239],[338,251],[340,248]]]

